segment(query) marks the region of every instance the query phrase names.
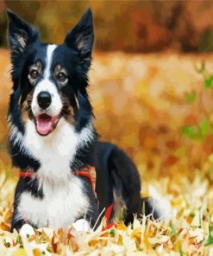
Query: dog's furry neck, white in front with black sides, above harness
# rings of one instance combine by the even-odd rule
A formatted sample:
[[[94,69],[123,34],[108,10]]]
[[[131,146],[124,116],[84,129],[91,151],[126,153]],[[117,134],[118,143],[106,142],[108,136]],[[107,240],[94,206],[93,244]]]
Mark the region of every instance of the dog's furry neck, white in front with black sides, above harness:
[[[32,120],[26,123],[24,135],[16,132],[16,126],[12,126],[10,132],[10,147],[16,165],[22,170],[31,168],[38,171],[42,179],[58,181],[61,177],[66,179],[72,170],[93,163],[96,140],[97,135],[91,123],[76,132],[74,126],[64,118],[47,137],[37,133]]]

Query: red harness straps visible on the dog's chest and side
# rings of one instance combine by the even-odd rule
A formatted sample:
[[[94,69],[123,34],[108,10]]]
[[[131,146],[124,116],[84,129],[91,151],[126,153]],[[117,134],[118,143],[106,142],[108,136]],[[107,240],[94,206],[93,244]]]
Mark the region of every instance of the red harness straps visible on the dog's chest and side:
[[[97,198],[97,193],[96,193],[96,168],[94,166],[91,165],[86,165],[84,168],[82,168],[81,170],[77,170],[75,172],[72,172],[74,176],[85,176],[87,177],[90,182],[91,182],[91,186],[94,192],[94,195]],[[28,172],[27,171],[21,171],[19,173],[19,177],[20,178],[25,178],[25,177],[34,177],[34,172]],[[110,229],[111,227],[113,227],[115,224],[112,222],[110,223],[110,216],[112,214],[112,209],[113,209],[113,203],[110,204],[110,206],[106,209],[104,217],[105,217],[105,221],[106,221],[106,227],[104,229]]]

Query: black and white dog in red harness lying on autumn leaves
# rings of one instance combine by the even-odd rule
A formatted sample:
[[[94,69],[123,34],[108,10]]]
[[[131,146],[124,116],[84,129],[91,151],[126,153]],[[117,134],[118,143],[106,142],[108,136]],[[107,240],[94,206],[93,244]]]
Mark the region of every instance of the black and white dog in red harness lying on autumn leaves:
[[[9,148],[22,176],[17,183],[13,228],[79,230],[94,226],[103,209],[110,220],[141,214],[141,181],[135,164],[115,145],[99,142],[86,87],[94,41],[91,10],[61,45],[41,43],[39,32],[8,10],[13,93]],[[96,170],[96,185],[79,170]],[[94,175],[94,173],[93,173]]]

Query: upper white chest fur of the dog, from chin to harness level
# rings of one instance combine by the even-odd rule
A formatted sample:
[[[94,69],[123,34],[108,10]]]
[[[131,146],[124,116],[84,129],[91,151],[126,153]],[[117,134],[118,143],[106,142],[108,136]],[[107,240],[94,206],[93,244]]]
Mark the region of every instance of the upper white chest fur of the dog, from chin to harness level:
[[[78,147],[84,146],[93,137],[91,124],[78,133],[65,118],[60,118],[56,129],[47,137],[38,134],[30,119],[25,129],[24,144],[41,163],[38,177],[40,180],[53,180],[52,182],[67,180],[67,176],[70,176],[70,164]]]

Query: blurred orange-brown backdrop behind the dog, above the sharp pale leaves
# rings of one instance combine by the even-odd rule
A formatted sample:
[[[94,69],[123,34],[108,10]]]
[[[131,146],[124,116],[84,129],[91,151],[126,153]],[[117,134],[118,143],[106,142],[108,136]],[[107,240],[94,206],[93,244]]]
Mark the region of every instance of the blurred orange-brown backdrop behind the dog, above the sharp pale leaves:
[[[56,43],[91,7],[89,90],[101,138],[127,151],[145,180],[197,170],[213,179],[212,1],[0,2],[0,159],[9,165],[6,7]]]

